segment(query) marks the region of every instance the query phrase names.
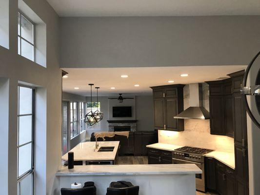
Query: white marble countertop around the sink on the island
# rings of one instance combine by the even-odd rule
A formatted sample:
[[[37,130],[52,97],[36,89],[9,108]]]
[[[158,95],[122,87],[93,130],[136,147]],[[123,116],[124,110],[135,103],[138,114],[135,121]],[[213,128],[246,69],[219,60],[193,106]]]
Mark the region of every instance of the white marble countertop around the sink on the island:
[[[99,148],[103,146],[115,146],[115,148],[113,152],[97,152],[99,148],[95,150],[96,142],[89,141],[79,143],[69,152],[74,152],[74,160],[115,160],[119,148],[119,141],[98,141],[98,144]],[[68,160],[68,153],[62,156],[61,159]]]

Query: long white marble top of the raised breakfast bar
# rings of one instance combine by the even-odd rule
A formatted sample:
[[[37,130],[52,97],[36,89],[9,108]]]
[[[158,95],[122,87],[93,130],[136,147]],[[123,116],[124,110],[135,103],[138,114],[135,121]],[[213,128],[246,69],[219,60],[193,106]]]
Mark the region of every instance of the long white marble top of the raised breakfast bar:
[[[201,174],[195,164],[146,164],[146,165],[87,165],[74,166],[74,169],[62,166],[56,176],[94,176],[94,175],[170,175]]]

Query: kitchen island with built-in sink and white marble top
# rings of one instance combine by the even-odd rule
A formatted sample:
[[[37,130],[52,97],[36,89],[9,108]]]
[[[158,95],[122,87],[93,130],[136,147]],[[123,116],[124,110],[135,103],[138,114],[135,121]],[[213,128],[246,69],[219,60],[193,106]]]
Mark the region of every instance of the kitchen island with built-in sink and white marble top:
[[[116,164],[119,149],[119,141],[98,141],[81,142],[69,152],[74,153],[74,161],[76,165],[90,164]],[[114,147],[112,151],[99,152],[101,147]],[[103,150],[104,151],[104,150]],[[61,157],[62,160],[68,160],[68,153]]]

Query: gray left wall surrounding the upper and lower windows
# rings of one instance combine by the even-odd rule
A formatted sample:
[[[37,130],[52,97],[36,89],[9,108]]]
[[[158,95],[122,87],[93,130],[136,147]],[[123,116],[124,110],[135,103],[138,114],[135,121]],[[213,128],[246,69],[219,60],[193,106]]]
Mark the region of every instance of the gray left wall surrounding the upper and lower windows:
[[[47,28],[47,68],[19,56],[17,49],[18,35],[18,0],[9,0],[9,48],[0,46],[0,78],[9,81],[8,110],[4,113],[8,120],[1,124],[8,134],[8,186],[1,186],[1,194],[17,195],[17,106],[18,83],[31,83],[36,86],[36,133],[41,130],[41,142],[36,139],[36,194],[53,195],[59,192],[56,172],[61,162],[61,70],[59,67],[59,17],[46,0],[24,0],[46,23]],[[2,92],[2,87],[0,88]],[[6,109],[4,109],[6,110]],[[0,109],[0,112],[3,110]],[[40,113],[44,113],[44,116]],[[41,116],[40,118],[38,116]],[[41,122],[41,123],[40,123]],[[7,126],[6,126],[7,125]],[[38,136],[38,135],[36,135]],[[40,152],[41,151],[41,152]],[[5,172],[0,173],[6,176]],[[40,182],[38,185],[37,182]],[[57,188],[56,188],[57,187]]]

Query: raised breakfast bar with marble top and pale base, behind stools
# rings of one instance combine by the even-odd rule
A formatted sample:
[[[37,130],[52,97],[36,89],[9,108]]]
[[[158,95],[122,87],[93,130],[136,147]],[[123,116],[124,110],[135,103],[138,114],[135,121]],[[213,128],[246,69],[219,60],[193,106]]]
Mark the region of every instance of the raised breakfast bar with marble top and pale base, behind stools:
[[[97,195],[105,195],[110,182],[120,180],[140,186],[139,195],[196,195],[195,174],[201,173],[195,164],[89,165],[61,167],[56,176],[60,188],[94,181]]]

